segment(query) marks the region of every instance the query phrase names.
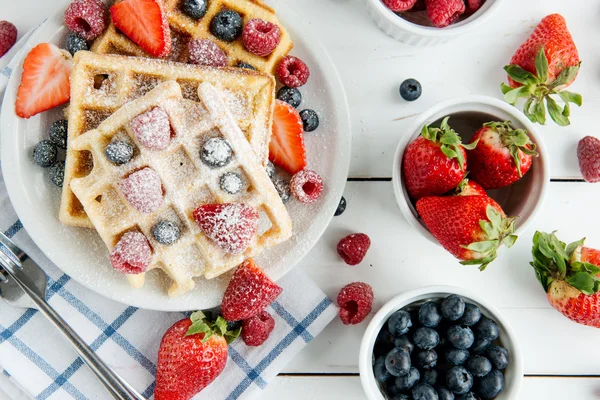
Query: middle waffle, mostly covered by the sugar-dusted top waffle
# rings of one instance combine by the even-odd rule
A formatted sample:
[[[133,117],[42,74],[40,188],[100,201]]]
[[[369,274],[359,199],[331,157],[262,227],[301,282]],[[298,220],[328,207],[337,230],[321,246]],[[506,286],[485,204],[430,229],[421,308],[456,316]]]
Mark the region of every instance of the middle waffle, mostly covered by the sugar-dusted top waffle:
[[[198,100],[198,85],[210,82],[220,88],[239,127],[257,154],[267,163],[275,96],[273,77],[241,68],[208,68],[158,59],[75,54],[71,73],[71,103],[68,109],[69,144],[60,221],[65,225],[91,228],[92,224],[73,194],[71,179],[89,173],[93,164],[87,151],[77,151],[70,142],[95,129],[126,102],[137,99],[158,84],[175,80],[184,98]]]

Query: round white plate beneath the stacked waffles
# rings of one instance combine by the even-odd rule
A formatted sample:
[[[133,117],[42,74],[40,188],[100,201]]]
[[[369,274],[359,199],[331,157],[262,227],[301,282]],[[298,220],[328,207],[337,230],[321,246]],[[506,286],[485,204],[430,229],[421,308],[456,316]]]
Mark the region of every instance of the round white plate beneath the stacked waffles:
[[[271,278],[279,279],[313,247],[335,212],[348,175],[351,132],[344,88],[327,52],[292,10],[281,3],[275,9],[294,40],[292,54],[304,60],[311,71],[308,84],[300,89],[304,100],[299,109],[312,108],[320,116],[319,128],[307,133],[305,142],[308,167],[321,174],[325,182],[323,197],[316,204],[305,205],[295,200],[287,204],[294,236],[256,259]],[[23,226],[60,269],[110,299],[164,311],[218,306],[229,274],[210,281],[197,279],[194,290],[176,298],[166,295],[169,280],[159,271],[147,274],[143,288],[132,289],[127,279],[111,268],[108,251],[95,231],[63,226],[58,221],[60,189],[50,182],[47,171],[35,165],[31,154],[34,146],[47,138],[50,124],[61,118],[63,107],[25,120],[15,115],[14,104],[22,61],[29,49],[40,42],[64,47],[66,34],[60,10],[33,34],[17,56],[19,67],[10,78],[2,104],[2,172]]]

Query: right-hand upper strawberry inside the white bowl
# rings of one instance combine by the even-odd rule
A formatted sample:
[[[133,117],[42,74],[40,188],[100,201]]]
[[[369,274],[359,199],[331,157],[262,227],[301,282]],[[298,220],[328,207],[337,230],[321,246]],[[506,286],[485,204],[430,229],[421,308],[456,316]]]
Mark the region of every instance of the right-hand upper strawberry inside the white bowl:
[[[498,189],[521,179],[537,156],[527,131],[514,129],[510,121],[483,124],[471,138],[477,142],[468,152],[471,176],[486,189]]]

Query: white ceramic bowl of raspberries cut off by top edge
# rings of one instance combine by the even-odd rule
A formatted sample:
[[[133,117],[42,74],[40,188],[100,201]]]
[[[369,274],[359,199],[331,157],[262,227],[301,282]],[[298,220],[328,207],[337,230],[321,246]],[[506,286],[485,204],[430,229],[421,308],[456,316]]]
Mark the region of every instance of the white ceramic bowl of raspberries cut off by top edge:
[[[365,0],[365,3],[375,24],[387,35],[414,46],[434,46],[446,43],[483,24],[498,10],[502,0],[487,0],[476,13],[446,28],[435,28],[423,24],[426,21],[425,11],[411,13],[414,14],[414,22],[411,22],[391,11],[381,0]],[[423,15],[416,15],[421,13]],[[420,20],[423,21],[421,24],[418,23]]]

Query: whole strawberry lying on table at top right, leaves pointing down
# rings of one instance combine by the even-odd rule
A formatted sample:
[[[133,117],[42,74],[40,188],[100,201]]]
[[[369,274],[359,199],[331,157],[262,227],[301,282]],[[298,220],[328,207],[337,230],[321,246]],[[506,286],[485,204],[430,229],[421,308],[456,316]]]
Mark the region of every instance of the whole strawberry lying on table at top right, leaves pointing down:
[[[548,15],[504,67],[510,85],[501,85],[504,99],[515,105],[519,98],[526,98],[525,115],[542,125],[546,123],[545,100],[552,120],[560,126],[569,125],[569,103],[581,106],[582,98],[562,89],[575,81],[580,66],[567,22],[560,14]],[[562,99],[562,109],[551,95]]]

